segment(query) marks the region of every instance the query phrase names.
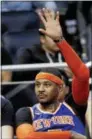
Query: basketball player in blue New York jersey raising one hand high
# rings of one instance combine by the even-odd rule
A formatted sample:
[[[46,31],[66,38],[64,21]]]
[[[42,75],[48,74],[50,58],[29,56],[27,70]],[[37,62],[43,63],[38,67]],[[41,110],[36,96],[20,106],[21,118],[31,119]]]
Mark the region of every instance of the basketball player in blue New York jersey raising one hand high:
[[[51,37],[62,52],[74,74],[72,92],[75,103],[85,105],[89,95],[89,70],[63,38],[59,24],[59,13],[43,9],[39,13],[46,30],[39,29]],[[85,128],[72,108],[58,101],[63,87],[61,74],[56,69],[44,69],[35,78],[35,92],[39,103],[21,108],[16,113],[16,135],[18,139],[86,139]],[[52,132],[53,131],[53,132]]]

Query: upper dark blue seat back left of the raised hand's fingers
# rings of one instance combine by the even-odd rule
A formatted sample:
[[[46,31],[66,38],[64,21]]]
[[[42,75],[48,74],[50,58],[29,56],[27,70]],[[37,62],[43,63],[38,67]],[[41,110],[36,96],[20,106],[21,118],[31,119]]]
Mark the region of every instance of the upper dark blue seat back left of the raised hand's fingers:
[[[39,28],[39,17],[33,11],[12,11],[1,13],[1,25],[8,28],[8,32],[19,32]]]

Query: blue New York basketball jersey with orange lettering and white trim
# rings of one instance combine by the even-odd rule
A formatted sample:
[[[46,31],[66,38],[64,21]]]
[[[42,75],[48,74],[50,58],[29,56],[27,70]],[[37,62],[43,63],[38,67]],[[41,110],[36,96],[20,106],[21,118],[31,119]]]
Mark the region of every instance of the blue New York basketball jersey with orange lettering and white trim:
[[[70,130],[85,135],[82,122],[67,103],[60,103],[54,113],[41,110],[39,105],[31,107],[35,131]]]

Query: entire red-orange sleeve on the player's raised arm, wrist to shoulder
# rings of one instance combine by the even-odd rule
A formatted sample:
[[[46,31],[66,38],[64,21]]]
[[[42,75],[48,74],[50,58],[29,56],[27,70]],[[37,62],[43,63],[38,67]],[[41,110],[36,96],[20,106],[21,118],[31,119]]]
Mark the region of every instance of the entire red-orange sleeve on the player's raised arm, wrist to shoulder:
[[[72,82],[74,101],[78,105],[84,105],[87,103],[89,95],[89,69],[65,40],[57,45],[74,74]]]

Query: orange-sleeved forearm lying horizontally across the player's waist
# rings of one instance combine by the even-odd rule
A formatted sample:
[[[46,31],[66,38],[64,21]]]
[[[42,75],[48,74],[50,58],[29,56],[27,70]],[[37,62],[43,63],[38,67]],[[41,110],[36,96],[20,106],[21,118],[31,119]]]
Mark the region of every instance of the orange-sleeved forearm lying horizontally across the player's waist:
[[[32,125],[22,124],[17,127],[16,136],[18,139],[71,139],[71,132],[34,132]]]

